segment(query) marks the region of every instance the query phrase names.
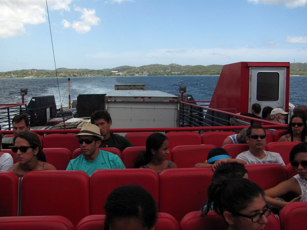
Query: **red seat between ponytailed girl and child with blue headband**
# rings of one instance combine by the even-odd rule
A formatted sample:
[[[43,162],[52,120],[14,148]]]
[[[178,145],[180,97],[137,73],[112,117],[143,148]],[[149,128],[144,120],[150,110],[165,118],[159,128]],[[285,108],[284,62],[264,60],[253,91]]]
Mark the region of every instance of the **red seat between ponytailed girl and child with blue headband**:
[[[196,163],[204,163],[208,152],[216,148],[215,145],[178,145],[172,150],[172,161],[178,168],[192,168]]]

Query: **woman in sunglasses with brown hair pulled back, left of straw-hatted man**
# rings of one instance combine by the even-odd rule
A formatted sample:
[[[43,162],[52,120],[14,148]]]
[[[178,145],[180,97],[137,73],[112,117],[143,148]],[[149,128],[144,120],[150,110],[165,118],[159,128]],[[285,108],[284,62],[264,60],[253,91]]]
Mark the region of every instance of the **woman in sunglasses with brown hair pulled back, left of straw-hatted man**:
[[[18,160],[8,171],[15,173],[18,177],[23,177],[33,170],[56,170],[56,168],[46,162],[46,156],[41,147],[41,140],[35,132],[18,132],[13,139],[12,151],[16,153]]]

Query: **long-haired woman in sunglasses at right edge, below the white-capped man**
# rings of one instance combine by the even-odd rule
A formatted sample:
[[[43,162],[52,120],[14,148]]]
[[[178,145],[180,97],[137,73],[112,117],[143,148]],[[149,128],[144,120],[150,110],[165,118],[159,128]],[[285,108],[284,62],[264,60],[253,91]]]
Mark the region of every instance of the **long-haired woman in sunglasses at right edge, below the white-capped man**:
[[[292,115],[288,130],[285,135],[279,138],[278,142],[289,142],[289,141],[306,141],[307,139],[307,128],[306,128],[306,118],[301,114]]]

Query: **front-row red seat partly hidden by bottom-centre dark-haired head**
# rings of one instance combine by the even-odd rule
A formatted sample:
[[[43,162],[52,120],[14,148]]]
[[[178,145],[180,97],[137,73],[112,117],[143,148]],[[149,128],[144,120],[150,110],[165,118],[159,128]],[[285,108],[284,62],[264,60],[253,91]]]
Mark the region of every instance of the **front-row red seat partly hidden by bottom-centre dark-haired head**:
[[[80,220],[76,230],[103,230],[106,215],[91,215]],[[157,213],[155,230],[179,230],[179,224],[168,213]]]

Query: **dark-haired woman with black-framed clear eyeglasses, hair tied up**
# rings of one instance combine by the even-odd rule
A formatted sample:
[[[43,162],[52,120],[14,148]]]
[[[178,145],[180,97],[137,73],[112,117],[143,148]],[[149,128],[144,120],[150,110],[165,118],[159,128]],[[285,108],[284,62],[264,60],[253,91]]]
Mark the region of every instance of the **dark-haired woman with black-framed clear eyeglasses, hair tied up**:
[[[213,210],[226,220],[227,230],[263,229],[271,213],[262,188],[245,178],[214,181],[207,196],[208,206],[203,215]]]

